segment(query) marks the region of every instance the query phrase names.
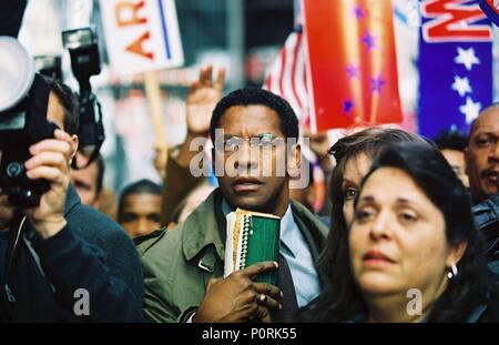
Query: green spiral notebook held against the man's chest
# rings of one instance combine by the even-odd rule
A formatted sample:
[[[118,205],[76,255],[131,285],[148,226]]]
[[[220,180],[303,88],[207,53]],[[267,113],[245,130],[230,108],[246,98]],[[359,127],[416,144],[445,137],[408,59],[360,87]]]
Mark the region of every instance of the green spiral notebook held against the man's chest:
[[[281,217],[237,209],[226,219],[224,277],[258,262],[278,262]],[[277,273],[266,273],[254,281],[276,285]]]

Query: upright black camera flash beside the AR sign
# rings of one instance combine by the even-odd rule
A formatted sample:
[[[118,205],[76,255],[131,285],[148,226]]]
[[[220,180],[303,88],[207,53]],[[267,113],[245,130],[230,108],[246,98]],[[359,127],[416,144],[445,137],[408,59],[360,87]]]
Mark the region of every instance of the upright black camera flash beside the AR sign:
[[[99,101],[92,93],[90,78],[101,72],[98,37],[93,27],[65,30],[62,43],[71,57],[71,70],[80,85],[80,151],[90,156],[89,165],[99,154],[104,142],[104,126]],[[98,118],[95,116],[98,114]],[[73,161],[75,162],[75,161]],[[73,169],[79,166],[73,165]]]

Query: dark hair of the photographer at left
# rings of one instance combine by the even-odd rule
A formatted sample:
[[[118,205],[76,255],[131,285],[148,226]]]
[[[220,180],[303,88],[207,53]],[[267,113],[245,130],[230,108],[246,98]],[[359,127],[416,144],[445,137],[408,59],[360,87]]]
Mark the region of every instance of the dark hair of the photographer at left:
[[[80,112],[77,94],[70,87],[61,81],[52,78],[44,77],[49,80],[50,90],[57,95],[59,102],[62,104],[64,113],[64,131],[69,134],[77,134],[80,126]]]

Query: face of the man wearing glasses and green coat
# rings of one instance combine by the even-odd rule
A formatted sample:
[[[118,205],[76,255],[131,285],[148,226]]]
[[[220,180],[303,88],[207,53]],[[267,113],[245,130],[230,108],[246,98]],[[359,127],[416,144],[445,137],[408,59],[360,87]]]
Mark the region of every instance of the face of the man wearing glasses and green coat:
[[[220,119],[225,150],[214,149],[214,164],[215,171],[223,166],[218,183],[233,207],[277,215],[286,211],[289,177],[285,136],[279,125],[277,112],[265,105],[232,106]],[[301,156],[297,152],[299,146],[287,156],[293,156],[296,165]]]

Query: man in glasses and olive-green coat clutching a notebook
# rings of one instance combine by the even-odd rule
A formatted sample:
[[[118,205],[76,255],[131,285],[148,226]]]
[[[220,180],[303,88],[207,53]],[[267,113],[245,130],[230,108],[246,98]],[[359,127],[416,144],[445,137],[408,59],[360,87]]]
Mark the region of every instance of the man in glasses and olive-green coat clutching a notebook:
[[[320,291],[315,262],[327,234],[308,210],[289,201],[289,177],[302,158],[296,115],[271,92],[241,89],[217,103],[210,135],[220,187],[184,224],[139,245],[145,315],[156,322],[247,322],[268,321],[273,312],[274,321],[285,321]],[[282,219],[279,262],[222,278],[225,217],[236,207]],[[253,281],[275,270],[278,287]]]

